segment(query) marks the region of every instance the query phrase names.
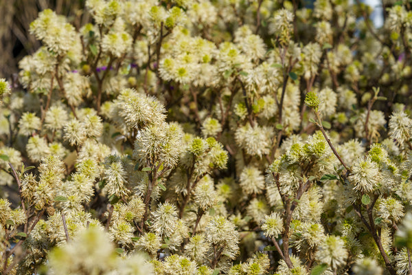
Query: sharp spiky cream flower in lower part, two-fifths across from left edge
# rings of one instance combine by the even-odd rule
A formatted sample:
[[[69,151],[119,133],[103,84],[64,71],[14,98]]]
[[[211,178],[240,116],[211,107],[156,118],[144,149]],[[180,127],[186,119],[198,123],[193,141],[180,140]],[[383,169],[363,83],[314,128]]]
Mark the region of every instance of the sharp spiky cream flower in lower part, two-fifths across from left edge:
[[[173,234],[178,219],[176,206],[170,203],[161,203],[159,208],[152,212],[152,230],[160,236]]]

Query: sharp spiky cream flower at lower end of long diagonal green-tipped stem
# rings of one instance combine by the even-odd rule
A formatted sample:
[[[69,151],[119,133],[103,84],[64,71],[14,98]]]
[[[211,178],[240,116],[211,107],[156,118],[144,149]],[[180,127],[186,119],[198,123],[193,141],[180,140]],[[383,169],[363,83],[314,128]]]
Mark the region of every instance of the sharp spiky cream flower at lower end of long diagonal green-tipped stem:
[[[371,192],[378,187],[382,176],[376,162],[371,157],[358,157],[352,165],[349,180],[354,184],[354,190]]]

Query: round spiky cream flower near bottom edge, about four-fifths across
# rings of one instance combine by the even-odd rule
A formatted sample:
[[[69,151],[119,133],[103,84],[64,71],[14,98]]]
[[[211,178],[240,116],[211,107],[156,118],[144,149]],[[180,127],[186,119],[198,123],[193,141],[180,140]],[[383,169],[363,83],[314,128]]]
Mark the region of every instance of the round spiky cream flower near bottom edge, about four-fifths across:
[[[344,265],[347,258],[345,242],[339,236],[327,236],[319,245],[316,253],[317,259],[322,263],[327,263],[336,270],[339,266]]]

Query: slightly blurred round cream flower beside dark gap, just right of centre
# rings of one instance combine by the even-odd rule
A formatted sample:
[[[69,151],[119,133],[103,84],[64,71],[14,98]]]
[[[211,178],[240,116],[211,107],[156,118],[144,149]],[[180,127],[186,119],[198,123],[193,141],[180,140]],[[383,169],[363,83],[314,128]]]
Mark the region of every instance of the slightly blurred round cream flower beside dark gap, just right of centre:
[[[255,166],[243,168],[239,177],[240,187],[246,195],[260,194],[264,190],[264,176]]]

